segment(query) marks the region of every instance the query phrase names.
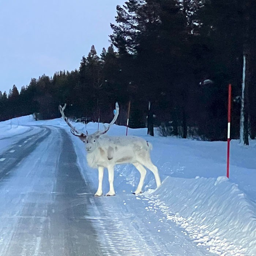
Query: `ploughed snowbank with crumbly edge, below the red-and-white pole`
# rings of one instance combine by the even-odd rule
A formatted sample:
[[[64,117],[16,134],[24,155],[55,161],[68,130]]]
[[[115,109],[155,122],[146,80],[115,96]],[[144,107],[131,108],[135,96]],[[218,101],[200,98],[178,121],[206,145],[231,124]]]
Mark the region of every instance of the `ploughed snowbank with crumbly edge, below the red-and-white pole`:
[[[256,208],[226,177],[167,177],[149,198],[210,252],[256,255]]]

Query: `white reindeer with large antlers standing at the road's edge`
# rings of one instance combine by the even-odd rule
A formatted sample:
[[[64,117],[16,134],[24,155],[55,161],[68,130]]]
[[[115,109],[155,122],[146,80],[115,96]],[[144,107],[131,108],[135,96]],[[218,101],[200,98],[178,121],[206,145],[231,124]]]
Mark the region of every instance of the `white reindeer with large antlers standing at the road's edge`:
[[[147,167],[155,176],[155,181],[157,187],[161,185],[161,180],[158,174],[158,169],[150,159],[150,150],[152,149],[152,144],[146,140],[136,137],[136,136],[108,136],[104,135],[110,128],[111,125],[117,119],[119,113],[119,106],[116,103],[116,113],[113,120],[108,127],[104,126],[103,131],[97,131],[91,135],[81,133],[76,131],[75,127],[69,123],[68,118],[64,115],[64,109],[60,106],[60,113],[65,120],[65,122],[71,128],[73,135],[78,136],[82,142],[86,143],[85,148],[87,151],[87,162],[92,168],[98,168],[99,171],[99,184],[98,190],[95,196],[102,195],[102,179],[104,167],[108,169],[109,174],[109,187],[110,190],[106,193],[106,196],[114,196],[114,166],[122,163],[132,163],[136,169],[140,172],[140,181],[136,191],[133,193],[135,195],[142,192],[144,178],[146,176]]]

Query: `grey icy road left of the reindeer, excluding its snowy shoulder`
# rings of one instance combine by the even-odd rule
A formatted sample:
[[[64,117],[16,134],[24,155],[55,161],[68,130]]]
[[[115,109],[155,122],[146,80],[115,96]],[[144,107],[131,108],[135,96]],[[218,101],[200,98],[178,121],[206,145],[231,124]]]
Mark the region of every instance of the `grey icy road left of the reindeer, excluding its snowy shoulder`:
[[[1,256],[101,255],[84,217],[90,201],[80,200],[90,189],[63,129],[23,134],[1,159]]]

